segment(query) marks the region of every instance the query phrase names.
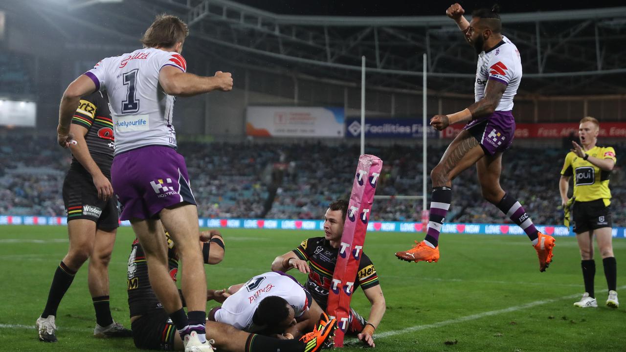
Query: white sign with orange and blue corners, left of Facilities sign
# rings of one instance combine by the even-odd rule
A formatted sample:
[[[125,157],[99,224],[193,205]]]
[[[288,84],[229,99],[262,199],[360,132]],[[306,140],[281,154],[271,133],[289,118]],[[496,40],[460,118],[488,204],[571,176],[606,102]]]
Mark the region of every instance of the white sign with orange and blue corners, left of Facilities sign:
[[[248,106],[245,132],[256,137],[344,137],[344,109]]]

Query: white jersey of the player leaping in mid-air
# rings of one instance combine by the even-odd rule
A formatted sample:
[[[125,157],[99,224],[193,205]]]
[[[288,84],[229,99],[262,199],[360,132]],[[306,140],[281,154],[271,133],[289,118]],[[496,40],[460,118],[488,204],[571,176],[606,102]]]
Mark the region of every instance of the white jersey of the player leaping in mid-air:
[[[495,80],[506,85],[496,111],[513,110],[513,97],[517,93],[517,88],[520,88],[521,82],[520,52],[515,44],[502,36],[502,41],[495,47],[478,54],[476,66],[475,101],[485,97],[487,81]]]

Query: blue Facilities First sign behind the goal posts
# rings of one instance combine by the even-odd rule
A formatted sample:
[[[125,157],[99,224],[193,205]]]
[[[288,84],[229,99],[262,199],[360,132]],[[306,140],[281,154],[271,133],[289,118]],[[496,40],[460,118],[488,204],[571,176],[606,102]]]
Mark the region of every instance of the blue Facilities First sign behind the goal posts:
[[[422,120],[417,118],[367,118],[366,138],[422,138]],[[428,138],[439,138],[439,132],[427,126]],[[346,119],[346,137],[361,138],[361,118]]]

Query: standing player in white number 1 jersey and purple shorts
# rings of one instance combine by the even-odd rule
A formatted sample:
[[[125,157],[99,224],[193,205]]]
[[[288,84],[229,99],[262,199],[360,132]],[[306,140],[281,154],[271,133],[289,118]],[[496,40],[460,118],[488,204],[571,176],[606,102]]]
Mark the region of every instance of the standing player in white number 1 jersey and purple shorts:
[[[109,96],[116,152],[113,191],[146,254],[150,284],[185,341],[185,351],[213,351],[205,339],[206,277],[198,244],[198,212],[187,166],[176,152],[174,96],[232,89],[230,73],[213,77],[187,73],[180,54],[189,32],[175,16],[157,16],[146,30],[143,49],[105,58],[67,88],[59,108],[58,142],[68,147],[69,123],[80,96],[104,90]],[[163,226],[178,247],[185,270],[182,290],[188,313],[170,279]]]

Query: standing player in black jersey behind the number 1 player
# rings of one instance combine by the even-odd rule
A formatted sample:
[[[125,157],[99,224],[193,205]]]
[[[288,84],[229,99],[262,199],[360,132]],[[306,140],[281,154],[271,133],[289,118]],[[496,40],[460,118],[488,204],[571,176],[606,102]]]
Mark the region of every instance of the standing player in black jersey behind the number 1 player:
[[[54,318],[74,275],[89,261],[89,291],[96,310],[94,336],[128,337],[130,330],[111,318],[108,264],[118,222],[117,200],[111,187],[115,139],[106,94],[96,91],[80,100],[72,118],[70,145],[73,158],[63,182],[68,216],[68,254],[56,268],[48,301],[36,326],[39,340],[56,342]]]

